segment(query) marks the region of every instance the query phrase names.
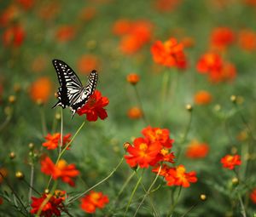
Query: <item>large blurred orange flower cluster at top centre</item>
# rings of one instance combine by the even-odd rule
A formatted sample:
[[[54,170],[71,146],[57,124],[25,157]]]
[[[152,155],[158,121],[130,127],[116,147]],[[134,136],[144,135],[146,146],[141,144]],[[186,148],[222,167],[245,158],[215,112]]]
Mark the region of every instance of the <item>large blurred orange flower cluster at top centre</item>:
[[[152,35],[152,24],[147,20],[117,20],[113,34],[120,36],[119,48],[124,54],[135,54],[148,43]]]

